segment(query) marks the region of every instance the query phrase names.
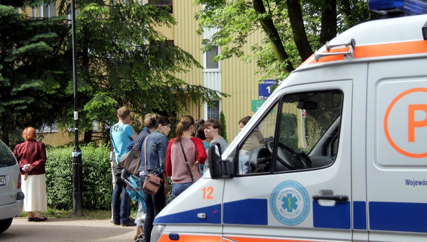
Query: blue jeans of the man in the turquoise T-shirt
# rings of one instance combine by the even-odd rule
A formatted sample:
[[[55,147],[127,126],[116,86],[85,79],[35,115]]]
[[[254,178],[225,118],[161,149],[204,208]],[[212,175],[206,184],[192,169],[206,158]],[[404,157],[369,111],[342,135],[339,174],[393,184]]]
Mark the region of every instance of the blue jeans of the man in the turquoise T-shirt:
[[[120,199],[120,194],[122,198]],[[113,222],[125,223],[130,216],[130,196],[126,192],[126,186],[115,185],[113,190]]]

